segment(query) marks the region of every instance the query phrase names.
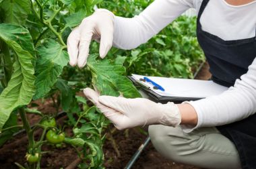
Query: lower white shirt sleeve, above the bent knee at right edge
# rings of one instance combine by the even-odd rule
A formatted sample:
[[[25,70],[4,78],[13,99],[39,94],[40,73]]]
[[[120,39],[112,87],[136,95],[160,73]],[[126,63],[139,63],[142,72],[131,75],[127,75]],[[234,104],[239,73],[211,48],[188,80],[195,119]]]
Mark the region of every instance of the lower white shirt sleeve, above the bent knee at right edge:
[[[240,121],[256,112],[256,58],[246,74],[237,79],[221,95],[199,101],[185,102],[195,108],[198,117],[196,127],[182,125],[185,132],[199,127],[213,127]]]

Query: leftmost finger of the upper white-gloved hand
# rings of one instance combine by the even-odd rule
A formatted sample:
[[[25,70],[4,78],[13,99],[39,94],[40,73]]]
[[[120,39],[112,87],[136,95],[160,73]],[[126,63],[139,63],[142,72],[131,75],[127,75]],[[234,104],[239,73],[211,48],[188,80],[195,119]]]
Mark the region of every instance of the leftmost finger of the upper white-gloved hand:
[[[67,38],[67,52],[69,54],[69,64],[77,64],[78,44],[80,39],[79,27],[75,27]]]

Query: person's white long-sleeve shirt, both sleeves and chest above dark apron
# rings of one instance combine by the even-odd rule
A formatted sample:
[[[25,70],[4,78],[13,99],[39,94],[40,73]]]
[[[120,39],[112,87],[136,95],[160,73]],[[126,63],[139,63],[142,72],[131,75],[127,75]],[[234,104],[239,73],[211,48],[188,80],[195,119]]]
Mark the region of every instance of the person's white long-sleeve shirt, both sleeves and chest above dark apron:
[[[189,8],[197,13],[202,0],[156,0],[133,18],[115,17],[114,46],[133,49],[158,34]],[[233,6],[210,1],[200,18],[202,29],[223,40],[255,37],[256,1]],[[256,54],[255,54],[256,57]],[[189,102],[197,112],[197,127],[217,126],[245,119],[256,112],[256,59],[246,74],[221,95]],[[185,129],[189,132],[192,129]]]

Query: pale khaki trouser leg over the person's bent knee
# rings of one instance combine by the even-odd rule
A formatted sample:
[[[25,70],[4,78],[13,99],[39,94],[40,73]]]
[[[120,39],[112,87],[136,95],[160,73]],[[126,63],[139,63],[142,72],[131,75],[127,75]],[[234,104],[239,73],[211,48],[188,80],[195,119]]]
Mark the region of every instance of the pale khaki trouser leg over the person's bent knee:
[[[234,144],[216,127],[184,133],[179,126],[150,125],[149,133],[156,150],[174,162],[201,168],[241,168]]]

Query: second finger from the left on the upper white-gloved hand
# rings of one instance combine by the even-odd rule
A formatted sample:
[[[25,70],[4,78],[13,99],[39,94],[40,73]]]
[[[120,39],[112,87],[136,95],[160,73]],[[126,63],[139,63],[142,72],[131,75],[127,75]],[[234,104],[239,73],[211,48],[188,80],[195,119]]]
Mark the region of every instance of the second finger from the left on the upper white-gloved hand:
[[[79,54],[77,58],[77,65],[79,68],[82,68],[86,65],[89,47],[92,41],[92,36],[94,34],[94,23],[91,21],[83,21],[82,25],[85,25],[80,32],[80,40],[79,40]],[[81,26],[82,26],[81,25]]]

